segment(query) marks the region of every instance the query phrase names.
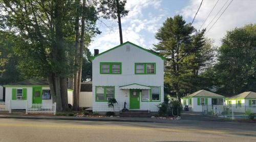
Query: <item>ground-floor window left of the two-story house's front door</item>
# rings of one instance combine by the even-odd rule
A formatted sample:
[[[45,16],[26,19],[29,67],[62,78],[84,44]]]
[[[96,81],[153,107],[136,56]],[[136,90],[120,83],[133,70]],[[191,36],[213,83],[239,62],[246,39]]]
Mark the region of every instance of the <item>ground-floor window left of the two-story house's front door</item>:
[[[115,87],[96,87],[96,101],[109,101],[115,96]]]

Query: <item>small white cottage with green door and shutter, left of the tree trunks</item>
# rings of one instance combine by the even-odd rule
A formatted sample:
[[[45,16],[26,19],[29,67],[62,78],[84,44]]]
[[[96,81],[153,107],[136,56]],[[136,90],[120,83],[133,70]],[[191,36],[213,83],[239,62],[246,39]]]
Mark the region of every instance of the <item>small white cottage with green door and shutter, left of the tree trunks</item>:
[[[47,80],[28,79],[9,83],[4,87],[5,102],[11,102],[11,109],[26,109],[26,103],[53,103]],[[73,90],[68,90],[68,98],[69,96],[73,97]]]

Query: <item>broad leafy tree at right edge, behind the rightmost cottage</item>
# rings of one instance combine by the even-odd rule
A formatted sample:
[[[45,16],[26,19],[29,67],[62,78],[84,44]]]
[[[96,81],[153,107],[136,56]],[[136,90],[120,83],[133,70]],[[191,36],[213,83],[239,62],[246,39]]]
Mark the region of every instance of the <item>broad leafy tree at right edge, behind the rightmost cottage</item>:
[[[211,72],[215,73],[220,94],[256,91],[256,24],[227,32]]]

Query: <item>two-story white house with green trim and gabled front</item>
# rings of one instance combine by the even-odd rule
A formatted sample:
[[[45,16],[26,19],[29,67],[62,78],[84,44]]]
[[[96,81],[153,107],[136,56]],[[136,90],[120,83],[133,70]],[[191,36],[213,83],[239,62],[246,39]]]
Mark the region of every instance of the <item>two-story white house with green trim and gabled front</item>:
[[[113,111],[108,107],[110,98],[118,102],[115,111],[120,111],[124,102],[130,110],[158,111],[164,97],[164,60],[131,42],[96,53],[91,59],[93,111]]]

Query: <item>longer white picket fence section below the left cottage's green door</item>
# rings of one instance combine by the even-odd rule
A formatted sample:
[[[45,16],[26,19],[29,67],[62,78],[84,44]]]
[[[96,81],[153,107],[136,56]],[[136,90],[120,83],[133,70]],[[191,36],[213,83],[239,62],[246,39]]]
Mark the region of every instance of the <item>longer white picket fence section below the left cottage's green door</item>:
[[[33,103],[26,106],[26,114],[28,113],[53,113],[56,114],[56,102],[55,103]]]

